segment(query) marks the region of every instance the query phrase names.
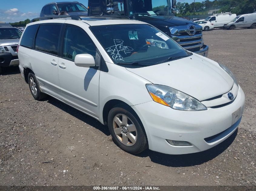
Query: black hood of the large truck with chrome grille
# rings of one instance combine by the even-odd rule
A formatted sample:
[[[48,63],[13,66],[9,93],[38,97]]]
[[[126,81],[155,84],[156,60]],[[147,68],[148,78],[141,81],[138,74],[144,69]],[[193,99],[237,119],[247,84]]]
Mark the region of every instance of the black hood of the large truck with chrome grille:
[[[143,21],[149,23],[153,26],[165,26],[165,27],[174,27],[187,24],[197,25],[194,22],[188,21],[183,18],[171,16],[135,16],[135,20]]]

